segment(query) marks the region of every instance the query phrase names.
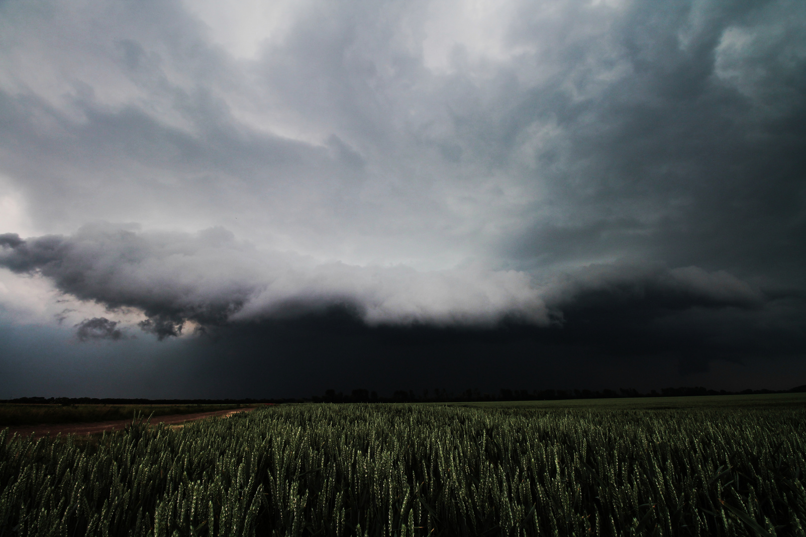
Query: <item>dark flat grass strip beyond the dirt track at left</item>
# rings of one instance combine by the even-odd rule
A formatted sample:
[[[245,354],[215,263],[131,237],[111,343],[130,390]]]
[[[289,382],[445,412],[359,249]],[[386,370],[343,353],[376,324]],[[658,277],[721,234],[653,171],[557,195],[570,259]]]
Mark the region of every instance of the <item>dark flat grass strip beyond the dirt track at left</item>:
[[[58,405],[0,403],[0,427],[55,423],[93,423],[141,415],[193,414],[241,405]]]

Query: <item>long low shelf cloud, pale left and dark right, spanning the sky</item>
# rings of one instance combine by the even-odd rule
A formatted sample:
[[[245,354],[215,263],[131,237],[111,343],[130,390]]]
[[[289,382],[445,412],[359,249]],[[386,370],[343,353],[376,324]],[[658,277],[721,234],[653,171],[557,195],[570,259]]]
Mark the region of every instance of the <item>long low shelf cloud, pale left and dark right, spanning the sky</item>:
[[[185,321],[218,328],[318,315],[334,307],[348,308],[373,326],[486,329],[501,323],[573,326],[580,314],[594,312],[610,317],[605,324],[621,318],[629,331],[658,319],[691,318],[700,310],[728,311],[724,319],[730,320],[729,310],[763,312],[775,300],[797,298],[769,297],[725,271],[646,262],[592,264],[544,283],[522,272],[478,266],[419,272],[319,264],[258,250],[220,228],[143,233],[97,224],[72,237],[4,240],[0,266],[42,275],[60,291],[111,310],[137,308],[148,317],[139,327],[160,340],[178,336]],[[89,328],[109,328],[92,322],[81,324],[82,340]]]

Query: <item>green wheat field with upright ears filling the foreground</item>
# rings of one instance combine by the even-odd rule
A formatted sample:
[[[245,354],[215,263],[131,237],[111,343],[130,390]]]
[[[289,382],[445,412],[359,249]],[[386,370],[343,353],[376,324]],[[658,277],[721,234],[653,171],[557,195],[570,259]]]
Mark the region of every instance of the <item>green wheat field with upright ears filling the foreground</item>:
[[[0,433],[6,535],[806,535],[802,394],[299,404]]]

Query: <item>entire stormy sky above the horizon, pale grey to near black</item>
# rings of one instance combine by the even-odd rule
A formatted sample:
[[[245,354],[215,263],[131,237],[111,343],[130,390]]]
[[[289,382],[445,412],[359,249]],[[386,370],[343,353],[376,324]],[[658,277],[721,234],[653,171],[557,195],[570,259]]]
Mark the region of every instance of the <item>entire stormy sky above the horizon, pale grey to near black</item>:
[[[0,2],[0,398],[801,384],[804,2]]]

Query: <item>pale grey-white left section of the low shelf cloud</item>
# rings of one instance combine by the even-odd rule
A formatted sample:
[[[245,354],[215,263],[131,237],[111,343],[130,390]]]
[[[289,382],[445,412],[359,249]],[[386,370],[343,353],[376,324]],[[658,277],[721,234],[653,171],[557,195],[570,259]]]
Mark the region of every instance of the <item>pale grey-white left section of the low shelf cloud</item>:
[[[81,300],[138,308],[144,330],[160,338],[192,320],[297,316],[334,304],[358,308],[369,324],[495,324],[513,316],[546,324],[529,275],[467,266],[419,272],[405,266],[317,263],[297,254],[257,250],[225,229],[137,233],[88,225],[73,237],[6,237],[0,266],[39,274]]]

